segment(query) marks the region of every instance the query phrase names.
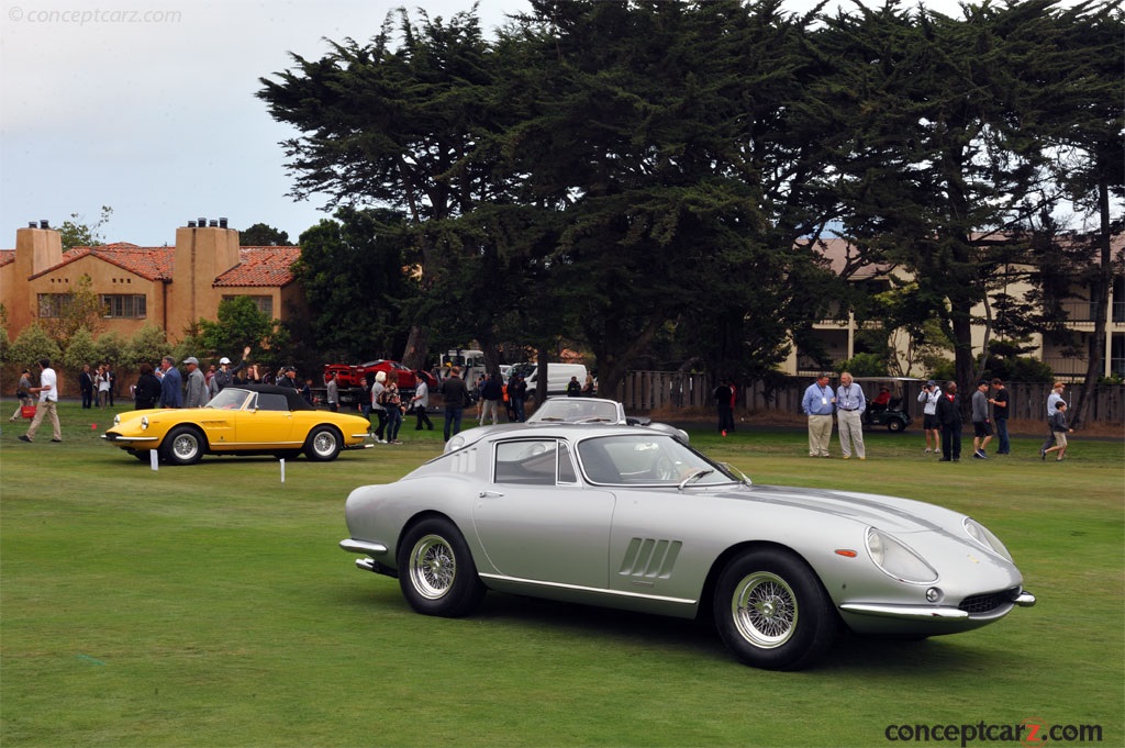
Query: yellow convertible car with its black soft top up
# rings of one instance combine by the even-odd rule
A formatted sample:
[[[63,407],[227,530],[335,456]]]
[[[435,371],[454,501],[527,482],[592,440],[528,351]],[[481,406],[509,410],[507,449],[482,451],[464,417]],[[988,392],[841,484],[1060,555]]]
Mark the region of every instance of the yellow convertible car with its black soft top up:
[[[227,387],[201,408],[130,411],[101,435],[140,460],[152,450],[172,465],[204,454],[273,454],[334,460],[361,449],[370,423],[358,415],[317,411],[295,389],[272,385]]]

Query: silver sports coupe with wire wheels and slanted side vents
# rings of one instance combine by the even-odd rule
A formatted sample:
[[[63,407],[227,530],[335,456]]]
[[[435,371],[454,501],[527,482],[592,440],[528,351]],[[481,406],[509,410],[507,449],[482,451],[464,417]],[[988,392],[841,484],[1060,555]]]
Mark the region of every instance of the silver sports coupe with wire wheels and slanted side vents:
[[[622,425],[500,430],[348,497],[357,566],[418,613],[486,589],[693,618],[747,665],[798,669],[840,624],[922,638],[1035,598],[996,535],[871,494],[755,486],[675,436]]]

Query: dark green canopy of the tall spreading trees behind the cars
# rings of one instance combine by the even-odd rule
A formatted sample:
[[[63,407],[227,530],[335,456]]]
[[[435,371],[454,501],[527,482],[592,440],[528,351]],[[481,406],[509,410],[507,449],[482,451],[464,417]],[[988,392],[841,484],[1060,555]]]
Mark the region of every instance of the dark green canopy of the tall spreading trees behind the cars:
[[[398,10],[294,55],[258,96],[298,132],[294,196],[339,210],[302,236],[317,340],[410,358],[566,337],[613,391],[657,350],[764,376],[838,300],[919,336],[937,321],[968,382],[974,309],[1019,325],[1005,273],[1035,259],[1035,218],[1122,198],[1123,19],[1116,0],[962,13],[531,0],[495,39],[472,12]],[[831,235],[911,285],[849,296]]]

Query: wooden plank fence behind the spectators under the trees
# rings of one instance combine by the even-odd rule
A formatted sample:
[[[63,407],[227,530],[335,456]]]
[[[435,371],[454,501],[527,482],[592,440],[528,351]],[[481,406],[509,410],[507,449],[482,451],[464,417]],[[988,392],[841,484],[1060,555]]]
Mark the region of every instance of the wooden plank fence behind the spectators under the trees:
[[[783,413],[800,413],[801,397],[806,388],[812,384],[807,377],[792,377],[773,390],[766,390],[762,382],[755,382],[738,388],[737,407],[747,411],[778,411]],[[835,384],[835,382],[834,382]],[[870,382],[864,385],[864,394],[871,398],[875,393]],[[921,391],[921,380],[898,381],[893,397],[901,397],[904,409],[911,415],[921,415],[921,404],[918,393]],[[647,413],[662,408],[712,408],[714,399],[714,381],[706,373],[682,373],[678,371],[630,371],[621,385],[618,399],[626,409],[633,413]],[[1048,384],[1012,382],[1006,385],[1009,402],[1009,418],[1043,420],[1046,418],[1046,400],[1051,394]],[[1077,403],[1079,385],[1066,388],[1063,398]],[[971,393],[970,393],[971,395]],[[968,396],[964,396],[968,399]],[[1072,403],[1073,404],[1073,403]],[[1125,387],[1120,385],[1098,385],[1094,389],[1094,400],[1090,403],[1089,420],[1101,422],[1125,421]]]

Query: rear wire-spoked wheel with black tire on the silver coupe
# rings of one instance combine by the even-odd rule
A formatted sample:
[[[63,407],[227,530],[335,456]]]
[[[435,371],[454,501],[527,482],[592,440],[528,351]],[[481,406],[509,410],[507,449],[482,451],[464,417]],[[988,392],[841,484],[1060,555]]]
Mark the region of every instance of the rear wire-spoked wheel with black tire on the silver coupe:
[[[471,613],[485,595],[465,538],[439,517],[420,522],[403,537],[398,586],[415,612],[451,619]]]

